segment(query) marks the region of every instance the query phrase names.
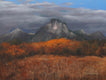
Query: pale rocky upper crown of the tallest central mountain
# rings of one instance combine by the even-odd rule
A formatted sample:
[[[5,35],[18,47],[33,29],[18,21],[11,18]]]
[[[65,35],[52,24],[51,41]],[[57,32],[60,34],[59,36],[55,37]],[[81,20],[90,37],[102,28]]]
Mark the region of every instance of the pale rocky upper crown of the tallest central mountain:
[[[45,26],[46,31],[60,35],[61,33],[69,33],[67,25],[59,19],[51,19],[51,21]]]

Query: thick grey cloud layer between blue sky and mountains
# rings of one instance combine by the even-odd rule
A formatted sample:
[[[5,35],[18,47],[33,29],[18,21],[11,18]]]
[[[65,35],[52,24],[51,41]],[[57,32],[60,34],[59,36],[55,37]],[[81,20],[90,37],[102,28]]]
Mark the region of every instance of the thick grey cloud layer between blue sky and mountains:
[[[106,34],[105,10],[68,8],[48,2],[17,5],[0,1],[0,34],[14,27],[36,31],[51,18],[63,20],[72,30],[101,31]]]

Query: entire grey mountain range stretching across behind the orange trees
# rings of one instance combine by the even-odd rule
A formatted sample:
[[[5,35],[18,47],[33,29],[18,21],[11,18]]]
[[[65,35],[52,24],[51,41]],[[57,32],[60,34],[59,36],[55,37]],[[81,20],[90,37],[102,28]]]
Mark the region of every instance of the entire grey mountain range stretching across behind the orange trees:
[[[58,38],[76,40],[106,39],[106,37],[99,31],[92,34],[87,34],[84,30],[72,31],[68,29],[65,22],[62,22],[59,19],[51,19],[50,22],[41,27],[34,34],[25,33],[21,29],[17,28],[8,34],[0,36],[0,42],[8,42],[14,39],[25,42],[40,42]]]

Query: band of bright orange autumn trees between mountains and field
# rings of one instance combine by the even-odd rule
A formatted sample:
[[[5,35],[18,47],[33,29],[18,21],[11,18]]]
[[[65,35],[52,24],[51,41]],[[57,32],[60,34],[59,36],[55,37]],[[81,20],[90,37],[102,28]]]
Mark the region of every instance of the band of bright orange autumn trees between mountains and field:
[[[1,58],[24,58],[37,54],[63,56],[104,56],[106,55],[106,42],[96,40],[75,41],[61,38],[39,43],[21,43],[18,45],[2,43],[0,45]]]

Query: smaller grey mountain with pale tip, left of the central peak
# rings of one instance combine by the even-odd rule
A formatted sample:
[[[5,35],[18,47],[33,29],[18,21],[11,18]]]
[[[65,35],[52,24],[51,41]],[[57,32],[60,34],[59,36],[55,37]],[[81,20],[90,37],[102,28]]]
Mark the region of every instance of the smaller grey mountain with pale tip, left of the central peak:
[[[8,34],[0,36],[0,42],[9,42],[12,40],[30,41],[33,35],[25,33],[21,29],[17,28]]]

